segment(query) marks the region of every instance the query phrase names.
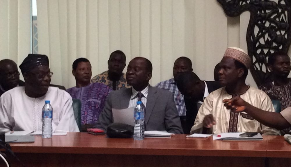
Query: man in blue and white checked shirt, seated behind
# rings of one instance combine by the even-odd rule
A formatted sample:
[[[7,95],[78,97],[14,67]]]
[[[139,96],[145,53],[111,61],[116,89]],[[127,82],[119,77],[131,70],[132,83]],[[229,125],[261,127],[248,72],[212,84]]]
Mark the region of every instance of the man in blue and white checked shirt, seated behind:
[[[157,88],[165,89],[173,93],[174,101],[176,103],[176,108],[178,110],[183,129],[185,129],[186,126],[186,106],[184,102],[184,96],[180,93],[175,82],[175,78],[177,78],[179,73],[187,71],[193,71],[191,60],[187,57],[179,57],[177,60],[175,60],[173,67],[174,78],[159,82],[155,86]]]

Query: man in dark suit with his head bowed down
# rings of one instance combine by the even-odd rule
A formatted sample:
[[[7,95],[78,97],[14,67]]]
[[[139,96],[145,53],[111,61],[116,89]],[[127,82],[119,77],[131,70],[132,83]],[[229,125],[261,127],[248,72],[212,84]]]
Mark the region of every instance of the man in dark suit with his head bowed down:
[[[196,115],[204,99],[216,89],[221,88],[219,82],[203,81],[194,72],[182,72],[178,75],[176,83],[179,91],[184,95],[186,105],[185,133],[190,133]]]

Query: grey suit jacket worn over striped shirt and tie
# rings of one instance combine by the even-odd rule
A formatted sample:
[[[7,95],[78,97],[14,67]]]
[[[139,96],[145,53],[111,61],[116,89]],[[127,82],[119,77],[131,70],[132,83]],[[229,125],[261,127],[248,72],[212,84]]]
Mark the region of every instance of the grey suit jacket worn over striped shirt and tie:
[[[99,115],[96,128],[107,130],[113,122],[113,109],[128,108],[132,88],[112,91],[107,97],[103,111]],[[133,113],[132,113],[133,116]],[[147,131],[168,131],[182,134],[182,126],[175,106],[173,94],[169,91],[149,86],[145,112],[145,127]]]

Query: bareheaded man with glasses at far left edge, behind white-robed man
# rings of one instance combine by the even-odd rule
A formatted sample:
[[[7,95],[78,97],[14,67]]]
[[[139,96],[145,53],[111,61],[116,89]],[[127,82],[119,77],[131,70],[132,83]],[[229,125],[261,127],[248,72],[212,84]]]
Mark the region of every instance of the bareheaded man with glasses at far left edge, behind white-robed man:
[[[24,82],[19,80],[19,75],[17,64],[13,60],[0,61],[0,96],[14,87],[24,86]]]

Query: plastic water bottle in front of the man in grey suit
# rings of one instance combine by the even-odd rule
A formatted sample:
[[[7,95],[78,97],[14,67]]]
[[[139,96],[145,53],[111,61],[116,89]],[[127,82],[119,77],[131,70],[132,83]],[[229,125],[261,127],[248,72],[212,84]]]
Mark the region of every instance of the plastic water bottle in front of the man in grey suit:
[[[145,110],[141,105],[141,101],[136,102],[136,107],[134,108],[134,140],[143,140],[145,138]]]

